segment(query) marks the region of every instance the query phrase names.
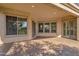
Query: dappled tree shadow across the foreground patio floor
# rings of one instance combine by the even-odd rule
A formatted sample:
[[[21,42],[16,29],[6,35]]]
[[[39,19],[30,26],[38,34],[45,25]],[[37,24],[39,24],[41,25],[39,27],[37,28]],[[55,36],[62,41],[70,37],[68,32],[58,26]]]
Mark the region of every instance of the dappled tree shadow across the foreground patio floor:
[[[79,48],[65,44],[54,44],[43,41],[44,44],[31,41],[13,45],[8,56],[79,56]]]

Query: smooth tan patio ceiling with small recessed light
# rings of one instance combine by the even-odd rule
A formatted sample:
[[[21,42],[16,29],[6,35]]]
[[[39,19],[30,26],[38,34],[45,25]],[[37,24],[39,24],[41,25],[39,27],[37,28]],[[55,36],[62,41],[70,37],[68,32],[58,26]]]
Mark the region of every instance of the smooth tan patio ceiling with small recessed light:
[[[18,3],[18,4],[0,4],[0,6],[15,9],[18,11],[29,12],[33,19],[53,19],[58,17],[64,17],[68,15],[75,15],[74,13],[63,10],[62,8],[55,6],[55,4],[49,3]]]

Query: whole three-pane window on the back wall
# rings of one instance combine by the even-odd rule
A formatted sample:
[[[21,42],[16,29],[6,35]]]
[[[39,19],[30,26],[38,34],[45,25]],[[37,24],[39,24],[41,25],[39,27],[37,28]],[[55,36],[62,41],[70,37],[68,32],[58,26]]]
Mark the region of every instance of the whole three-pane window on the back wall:
[[[39,32],[56,33],[56,22],[42,22],[38,24]]]

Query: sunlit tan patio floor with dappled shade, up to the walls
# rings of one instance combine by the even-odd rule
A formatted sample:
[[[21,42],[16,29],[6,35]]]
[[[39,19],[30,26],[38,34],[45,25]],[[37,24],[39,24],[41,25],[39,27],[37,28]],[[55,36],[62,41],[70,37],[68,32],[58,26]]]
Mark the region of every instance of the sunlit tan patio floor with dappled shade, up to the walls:
[[[36,38],[13,43],[9,56],[79,56],[79,41],[66,38]]]

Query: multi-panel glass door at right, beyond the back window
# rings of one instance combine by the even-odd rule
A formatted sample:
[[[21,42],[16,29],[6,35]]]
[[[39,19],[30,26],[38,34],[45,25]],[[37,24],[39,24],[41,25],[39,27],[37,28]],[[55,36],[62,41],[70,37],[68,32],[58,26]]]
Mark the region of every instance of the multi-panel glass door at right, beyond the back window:
[[[64,21],[63,22],[63,35],[68,38],[76,39],[77,30],[76,20]]]

